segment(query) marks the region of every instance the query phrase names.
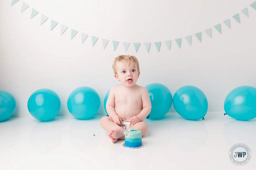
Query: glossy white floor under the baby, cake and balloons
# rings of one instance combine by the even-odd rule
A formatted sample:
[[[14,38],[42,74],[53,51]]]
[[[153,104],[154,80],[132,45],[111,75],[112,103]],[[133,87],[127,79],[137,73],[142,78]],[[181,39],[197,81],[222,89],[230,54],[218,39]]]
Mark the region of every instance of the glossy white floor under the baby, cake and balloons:
[[[40,122],[11,117],[0,122],[0,169],[255,169],[256,118],[238,121],[223,112],[208,112],[190,121],[177,113],[149,120],[144,147],[126,149],[112,144],[96,115]],[[93,136],[95,134],[95,136]],[[251,160],[237,166],[229,160],[236,143],[247,145]]]

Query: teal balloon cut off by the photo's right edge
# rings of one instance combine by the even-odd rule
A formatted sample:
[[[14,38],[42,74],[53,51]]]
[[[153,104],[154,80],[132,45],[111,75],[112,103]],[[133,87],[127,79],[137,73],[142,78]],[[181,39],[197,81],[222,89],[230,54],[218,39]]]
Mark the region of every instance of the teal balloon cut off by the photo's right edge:
[[[226,114],[238,120],[256,117],[256,88],[240,86],[231,90],[224,101]]]

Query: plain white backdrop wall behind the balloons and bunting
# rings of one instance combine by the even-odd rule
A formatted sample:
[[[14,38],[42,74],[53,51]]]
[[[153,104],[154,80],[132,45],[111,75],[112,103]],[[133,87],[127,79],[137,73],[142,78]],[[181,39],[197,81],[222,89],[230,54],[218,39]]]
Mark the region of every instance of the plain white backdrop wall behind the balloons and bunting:
[[[253,0],[12,0],[0,5],[0,90],[17,102],[14,117],[30,116],[29,96],[41,88],[54,90],[61,100],[58,115],[70,115],[67,98],[80,86],[95,89],[101,100],[97,114],[106,114],[103,100],[113,85],[112,62],[134,54],[140,62],[137,84],[162,83],[172,96],[193,85],[208,99],[208,111],[222,111],[228,92],[256,86],[256,10]],[[30,7],[20,13],[22,2]],[[241,10],[248,7],[249,17]],[[30,19],[32,8],[39,13]],[[241,24],[233,15],[239,13]],[[40,25],[41,16],[48,19]],[[231,29],[223,23],[230,18]],[[57,24],[50,30],[51,19]],[[214,25],[221,23],[220,34]],[[60,35],[61,24],[68,29]],[[212,28],[212,39],[204,30]],[[71,40],[71,29],[78,31]],[[89,36],[81,43],[81,33]],[[202,32],[202,42],[195,33]],[[192,35],[189,46],[186,36]],[[91,36],[99,37],[92,47]],[[182,38],[181,48],[175,39]],[[109,39],[103,50],[102,39]],[[120,41],[113,49],[112,40]],[[164,41],[172,40],[171,50]],[[161,41],[160,52],[154,42]],[[130,42],[124,52],[123,42]],[[138,53],[133,43],[141,43]],[[151,42],[149,53],[143,43]],[[170,110],[174,112],[173,106]]]

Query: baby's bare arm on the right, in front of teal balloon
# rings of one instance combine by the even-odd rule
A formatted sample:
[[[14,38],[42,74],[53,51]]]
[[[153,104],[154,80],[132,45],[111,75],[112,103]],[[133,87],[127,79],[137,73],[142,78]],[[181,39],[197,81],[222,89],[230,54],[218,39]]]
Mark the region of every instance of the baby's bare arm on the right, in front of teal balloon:
[[[144,120],[151,111],[151,102],[148,95],[148,90],[144,87],[142,87],[141,100],[142,100],[142,110],[137,116],[133,116],[132,118],[130,118],[130,122],[132,124],[136,124]]]

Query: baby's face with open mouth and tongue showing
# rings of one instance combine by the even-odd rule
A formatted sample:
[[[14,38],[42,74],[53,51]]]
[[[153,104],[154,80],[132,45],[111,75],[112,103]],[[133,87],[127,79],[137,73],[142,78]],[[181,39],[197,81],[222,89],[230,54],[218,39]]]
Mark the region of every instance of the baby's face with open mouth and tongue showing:
[[[140,72],[132,65],[132,61],[128,65],[126,61],[119,61],[116,63],[117,74],[115,78],[126,87],[132,87],[138,80]]]

